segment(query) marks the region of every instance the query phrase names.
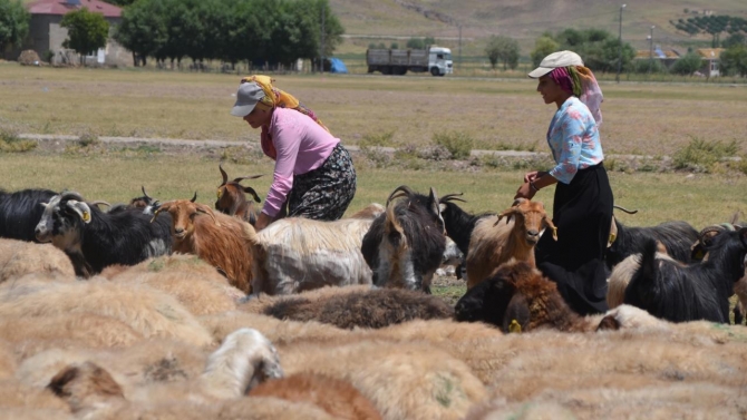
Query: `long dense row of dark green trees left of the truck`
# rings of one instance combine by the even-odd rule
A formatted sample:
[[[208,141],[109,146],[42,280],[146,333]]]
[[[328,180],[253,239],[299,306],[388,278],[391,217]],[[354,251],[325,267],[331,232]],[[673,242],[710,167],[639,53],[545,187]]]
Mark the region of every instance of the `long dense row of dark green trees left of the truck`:
[[[138,0],[124,9],[114,38],[136,65],[151,57],[290,67],[320,58],[322,11],[330,57],[343,28],[328,0]]]

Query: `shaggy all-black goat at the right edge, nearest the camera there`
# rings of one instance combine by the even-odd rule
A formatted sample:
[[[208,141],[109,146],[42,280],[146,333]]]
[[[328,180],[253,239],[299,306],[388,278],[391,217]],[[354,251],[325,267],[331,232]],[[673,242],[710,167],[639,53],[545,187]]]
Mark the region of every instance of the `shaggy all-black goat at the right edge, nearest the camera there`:
[[[745,275],[747,228],[720,233],[708,248],[708,260],[699,264],[657,260],[656,251],[656,241],[649,240],[624,303],[671,322],[729,322],[729,296]]]

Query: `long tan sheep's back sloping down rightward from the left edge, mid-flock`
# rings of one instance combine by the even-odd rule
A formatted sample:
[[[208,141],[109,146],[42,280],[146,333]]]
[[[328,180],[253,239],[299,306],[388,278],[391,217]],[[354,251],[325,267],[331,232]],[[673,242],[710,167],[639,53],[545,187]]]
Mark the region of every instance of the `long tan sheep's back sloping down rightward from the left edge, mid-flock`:
[[[128,286],[95,277],[7,299],[11,293],[0,293],[0,318],[91,313],[122,321],[145,338],[178,338],[195,345],[212,343],[207,331],[174,297],[145,285]]]

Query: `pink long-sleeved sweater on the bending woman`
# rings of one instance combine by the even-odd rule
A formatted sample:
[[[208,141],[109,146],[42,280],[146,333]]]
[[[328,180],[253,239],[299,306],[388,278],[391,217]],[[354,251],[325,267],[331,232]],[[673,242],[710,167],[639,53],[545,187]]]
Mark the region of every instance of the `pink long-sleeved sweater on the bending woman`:
[[[340,143],[309,116],[288,108],[274,109],[270,126],[262,127],[262,140],[270,140],[277,152],[273,182],[262,207],[271,217],[285,203],[293,176],[320,167]]]

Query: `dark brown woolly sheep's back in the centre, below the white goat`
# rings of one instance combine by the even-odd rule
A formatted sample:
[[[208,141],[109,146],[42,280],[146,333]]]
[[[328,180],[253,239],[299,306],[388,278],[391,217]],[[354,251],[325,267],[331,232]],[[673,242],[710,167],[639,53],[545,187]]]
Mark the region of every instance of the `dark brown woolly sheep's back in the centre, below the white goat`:
[[[345,287],[348,289],[348,287]],[[399,289],[356,290],[310,301],[300,295],[279,299],[263,312],[280,320],[318,321],[341,329],[380,329],[414,319],[447,319],[454,310],[437,296]]]

